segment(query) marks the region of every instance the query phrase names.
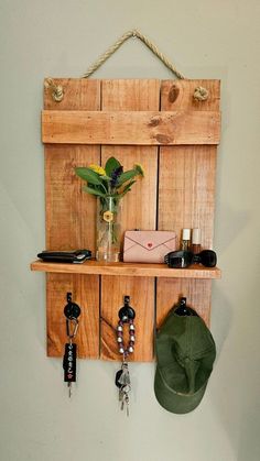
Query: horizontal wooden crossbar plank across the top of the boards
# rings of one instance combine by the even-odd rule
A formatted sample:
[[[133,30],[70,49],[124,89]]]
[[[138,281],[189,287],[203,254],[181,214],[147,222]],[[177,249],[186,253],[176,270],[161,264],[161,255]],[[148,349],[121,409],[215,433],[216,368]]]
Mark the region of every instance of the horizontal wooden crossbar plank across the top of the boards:
[[[220,114],[214,111],[42,112],[42,141],[67,144],[217,144]]]

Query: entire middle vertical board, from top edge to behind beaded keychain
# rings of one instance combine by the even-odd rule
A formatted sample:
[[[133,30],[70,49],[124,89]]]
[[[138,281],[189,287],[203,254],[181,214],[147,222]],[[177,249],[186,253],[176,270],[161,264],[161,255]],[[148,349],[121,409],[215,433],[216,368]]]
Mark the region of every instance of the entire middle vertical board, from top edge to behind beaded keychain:
[[[102,110],[158,110],[159,80],[102,80]],[[141,163],[145,177],[138,179],[122,200],[122,231],[155,229],[158,149],[153,146],[102,146],[101,163],[115,155],[124,166]],[[112,284],[112,285],[111,285]],[[115,287],[111,289],[111,286]],[[130,296],[136,309],[139,340],[130,356],[134,361],[151,361],[153,356],[154,279],[147,277],[101,277],[101,359],[121,360],[117,352],[115,329],[123,295]]]

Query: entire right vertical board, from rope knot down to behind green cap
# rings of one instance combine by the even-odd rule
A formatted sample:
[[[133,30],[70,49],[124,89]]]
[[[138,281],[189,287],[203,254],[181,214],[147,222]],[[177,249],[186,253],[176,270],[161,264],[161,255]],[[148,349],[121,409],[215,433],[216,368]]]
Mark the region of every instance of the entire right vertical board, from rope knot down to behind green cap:
[[[207,101],[196,101],[194,89],[208,89]],[[165,80],[161,87],[162,110],[219,110],[219,80]],[[216,146],[160,147],[159,230],[175,230],[177,244],[183,228],[202,229],[202,246],[213,245]],[[156,283],[156,325],[181,296],[204,318],[210,319],[212,282],[160,278]]]

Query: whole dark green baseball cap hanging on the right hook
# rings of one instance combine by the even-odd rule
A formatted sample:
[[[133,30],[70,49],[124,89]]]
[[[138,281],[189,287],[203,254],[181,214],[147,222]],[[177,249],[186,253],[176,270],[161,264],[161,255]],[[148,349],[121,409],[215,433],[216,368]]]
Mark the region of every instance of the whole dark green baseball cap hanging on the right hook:
[[[170,311],[155,338],[158,365],[154,392],[169,411],[195,409],[206,391],[216,345],[204,320]]]

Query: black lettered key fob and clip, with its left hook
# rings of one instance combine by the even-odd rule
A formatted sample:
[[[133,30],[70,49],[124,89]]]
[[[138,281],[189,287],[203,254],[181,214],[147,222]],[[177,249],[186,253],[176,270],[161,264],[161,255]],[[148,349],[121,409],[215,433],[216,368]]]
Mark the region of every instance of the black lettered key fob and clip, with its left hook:
[[[68,386],[68,397],[72,397],[72,383],[76,382],[76,360],[77,360],[77,344],[73,342],[78,330],[78,317],[80,315],[80,307],[72,301],[72,293],[67,293],[67,305],[64,308],[66,317],[66,334],[68,341],[65,344],[65,352],[63,358],[64,382]]]

